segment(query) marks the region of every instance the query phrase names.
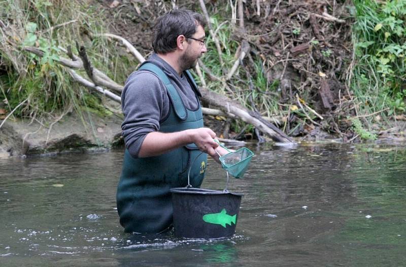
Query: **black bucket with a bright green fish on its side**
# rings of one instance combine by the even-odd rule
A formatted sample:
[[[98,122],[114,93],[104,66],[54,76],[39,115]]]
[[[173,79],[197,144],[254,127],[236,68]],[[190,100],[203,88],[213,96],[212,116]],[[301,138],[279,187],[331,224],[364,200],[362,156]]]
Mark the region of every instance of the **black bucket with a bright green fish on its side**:
[[[172,188],[177,237],[221,238],[235,233],[242,194],[200,188]]]

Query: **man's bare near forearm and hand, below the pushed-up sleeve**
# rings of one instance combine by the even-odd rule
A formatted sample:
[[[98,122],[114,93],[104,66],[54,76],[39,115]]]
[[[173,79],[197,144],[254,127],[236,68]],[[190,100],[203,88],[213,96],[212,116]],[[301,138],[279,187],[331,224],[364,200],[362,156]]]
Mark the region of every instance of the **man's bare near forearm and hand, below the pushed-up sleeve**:
[[[213,140],[215,137],[216,134],[209,128],[189,129],[174,133],[151,132],[146,135],[138,156],[140,158],[158,156],[186,144],[195,143],[201,151],[217,159],[215,149],[219,144]]]

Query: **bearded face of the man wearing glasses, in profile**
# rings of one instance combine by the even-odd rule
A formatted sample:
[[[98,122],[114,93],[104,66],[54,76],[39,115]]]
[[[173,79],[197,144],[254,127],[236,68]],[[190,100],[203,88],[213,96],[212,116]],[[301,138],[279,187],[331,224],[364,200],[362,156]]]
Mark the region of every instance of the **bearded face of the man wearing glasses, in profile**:
[[[206,53],[206,45],[204,42],[206,34],[205,29],[199,25],[196,32],[188,39],[185,53],[180,57],[179,63],[183,70],[194,68],[197,63],[197,59]],[[193,39],[192,39],[193,38]]]

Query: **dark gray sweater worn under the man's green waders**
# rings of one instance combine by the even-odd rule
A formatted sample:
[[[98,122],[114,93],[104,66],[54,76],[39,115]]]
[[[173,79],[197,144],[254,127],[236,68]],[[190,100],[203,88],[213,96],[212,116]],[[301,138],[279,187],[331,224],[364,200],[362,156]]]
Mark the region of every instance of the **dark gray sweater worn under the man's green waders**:
[[[198,100],[185,75],[179,76],[170,64],[156,54],[152,54],[147,61],[162,68],[179,92],[186,108],[197,109]],[[159,131],[159,125],[169,115],[171,106],[166,88],[157,75],[146,70],[134,71],[129,75],[121,93],[124,113],[121,129],[125,147],[132,157],[138,158],[148,133]]]

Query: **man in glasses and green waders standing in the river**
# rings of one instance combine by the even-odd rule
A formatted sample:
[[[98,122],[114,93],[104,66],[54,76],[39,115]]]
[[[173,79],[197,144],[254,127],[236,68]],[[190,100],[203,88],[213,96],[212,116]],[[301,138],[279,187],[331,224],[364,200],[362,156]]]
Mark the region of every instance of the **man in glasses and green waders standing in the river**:
[[[131,73],[121,95],[125,141],[117,210],[125,232],[160,233],[172,223],[170,188],[200,186],[207,154],[226,151],[203,128],[200,92],[187,69],[204,54],[205,19],[185,9],[159,17],[154,54]],[[217,151],[216,151],[217,150]],[[201,154],[205,152],[206,154]]]

